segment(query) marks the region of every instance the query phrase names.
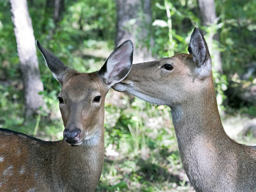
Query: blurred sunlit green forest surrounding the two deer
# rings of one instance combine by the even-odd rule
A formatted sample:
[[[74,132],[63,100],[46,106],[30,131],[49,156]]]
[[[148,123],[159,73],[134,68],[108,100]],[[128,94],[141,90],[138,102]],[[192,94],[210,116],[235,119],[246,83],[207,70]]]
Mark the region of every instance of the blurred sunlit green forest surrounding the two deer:
[[[185,52],[204,31],[228,135],[256,144],[255,0],[0,0],[0,128],[60,140],[59,83],[40,42],[79,72],[99,70],[126,39],[134,62]],[[170,108],[110,90],[105,164],[97,191],[193,191]]]

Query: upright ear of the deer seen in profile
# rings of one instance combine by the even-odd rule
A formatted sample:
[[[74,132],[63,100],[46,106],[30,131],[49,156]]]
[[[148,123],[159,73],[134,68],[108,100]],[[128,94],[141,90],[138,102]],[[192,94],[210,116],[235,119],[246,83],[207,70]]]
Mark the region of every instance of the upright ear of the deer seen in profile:
[[[212,60],[202,31],[198,28],[195,28],[191,35],[188,52],[193,55],[198,75],[201,78],[209,76],[212,71]]]

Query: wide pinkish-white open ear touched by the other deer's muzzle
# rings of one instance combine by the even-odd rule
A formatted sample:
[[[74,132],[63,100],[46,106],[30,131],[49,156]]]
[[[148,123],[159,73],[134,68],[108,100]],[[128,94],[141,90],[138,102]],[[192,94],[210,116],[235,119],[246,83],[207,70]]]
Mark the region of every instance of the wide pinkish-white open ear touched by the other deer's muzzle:
[[[122,81],[132,68],[133,44],[126,40],[108,57],[99,74],[109,88]]]

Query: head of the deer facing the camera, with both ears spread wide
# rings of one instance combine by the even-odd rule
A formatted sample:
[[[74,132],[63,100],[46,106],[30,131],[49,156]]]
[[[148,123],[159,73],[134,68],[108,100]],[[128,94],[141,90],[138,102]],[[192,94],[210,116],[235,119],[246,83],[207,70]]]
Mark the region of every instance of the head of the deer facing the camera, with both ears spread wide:
[[[61,85],[58,99],[65,127],[64,140],[70,145],[81,145],[104,127],[105,97],[110,87],[122,81],[132,67],[132,41],[117,47],[102,68],[92,73],[79,73],[67,67],[38,40],[36,44]]]

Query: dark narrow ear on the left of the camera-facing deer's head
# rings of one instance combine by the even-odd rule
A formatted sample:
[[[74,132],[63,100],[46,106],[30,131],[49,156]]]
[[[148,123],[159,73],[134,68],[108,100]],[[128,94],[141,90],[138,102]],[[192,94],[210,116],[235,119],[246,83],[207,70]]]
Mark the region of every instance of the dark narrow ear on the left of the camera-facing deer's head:
[[[68,77],[68,75],[77,73],[77,71],[67,67],[58,57],[45,49],[38,40],[36,40],[36,45],[39,51],[42,53],[46,65],[51,70],[52,75],[55,77],[55,79],[57,79],[57,81],[60,82],[61,85],[63,84],[64,79]]]

